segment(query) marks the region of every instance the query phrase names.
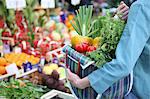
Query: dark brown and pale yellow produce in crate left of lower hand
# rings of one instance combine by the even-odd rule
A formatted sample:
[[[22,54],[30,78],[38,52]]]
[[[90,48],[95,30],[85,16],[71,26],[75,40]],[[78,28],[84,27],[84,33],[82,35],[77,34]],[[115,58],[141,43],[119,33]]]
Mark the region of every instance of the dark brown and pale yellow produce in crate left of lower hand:
[[[48,72],[49,70],[51,74]],[[57,89],[69,93],[69,89],[65,86],[66,82],[64,75],[64,67],[58,67],[57,64],[51,64],[49,67],[44,66],[42,73],[36,71],[19,79],[28,80],[36,85],[47,86],[49,89]]]

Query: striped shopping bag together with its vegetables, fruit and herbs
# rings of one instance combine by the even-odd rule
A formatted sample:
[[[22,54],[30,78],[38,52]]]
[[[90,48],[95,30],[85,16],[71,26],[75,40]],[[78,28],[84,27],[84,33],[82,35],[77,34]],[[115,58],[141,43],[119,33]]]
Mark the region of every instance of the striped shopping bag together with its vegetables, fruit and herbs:
[[[79,35],[71,38],[72,46],[65,46],[63,52],[66,53],[66,67],[83,78],[115,58],[115,50],[124,29],[124,22],[115,19],[109,13],[92,20],[92,6],[82,6],[76,13],[71,24]],[[118,97],[120,93],[117,91],[119,87],[116,86],[130,83],[130,78],[129,75],[114,83],[102,94],[102,97],[120,98]],[[121,89],[125,90],[122,94],[127,93],[129,87],[130,84],[125,85],[124,89]],[[117,88],[115,95],[114,88]],[[98,95],[91,87],[81,90],[71,85],[71,89],[79,99],[95,99]]]

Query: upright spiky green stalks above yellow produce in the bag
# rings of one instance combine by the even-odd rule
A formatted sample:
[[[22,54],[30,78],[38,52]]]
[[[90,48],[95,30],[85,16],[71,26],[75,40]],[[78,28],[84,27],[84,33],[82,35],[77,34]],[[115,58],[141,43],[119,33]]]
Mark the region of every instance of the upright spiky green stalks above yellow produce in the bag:
[[[93,28],[97,21],[92,21],[92,10],[93,6],[81,6],[76,11],[75,22],[71,21],[73,28],[81,36],[91,36],[98,31],[97,28]]]

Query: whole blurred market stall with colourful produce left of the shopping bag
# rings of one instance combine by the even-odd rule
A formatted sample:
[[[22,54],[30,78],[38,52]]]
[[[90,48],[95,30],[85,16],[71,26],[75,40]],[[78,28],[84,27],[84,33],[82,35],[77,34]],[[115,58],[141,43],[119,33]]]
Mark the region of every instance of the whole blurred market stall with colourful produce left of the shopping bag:
[[[76,35],[69,23],[74,15],[55,8],[55,2],[41,3],[0,2],[0,98],[74,99],[62,52]]]

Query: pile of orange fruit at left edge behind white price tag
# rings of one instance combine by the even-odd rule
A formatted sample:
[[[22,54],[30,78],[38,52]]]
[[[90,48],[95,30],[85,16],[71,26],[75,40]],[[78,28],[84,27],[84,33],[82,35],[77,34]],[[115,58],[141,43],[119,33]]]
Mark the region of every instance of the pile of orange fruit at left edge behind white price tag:
[[[23,63],[30,62],[32,65],[38,64],[40,59],[26,53],[9,53],[0,57],[0,75],[6,74],[6,66],[15,63],[18,68],[23,68]]]

